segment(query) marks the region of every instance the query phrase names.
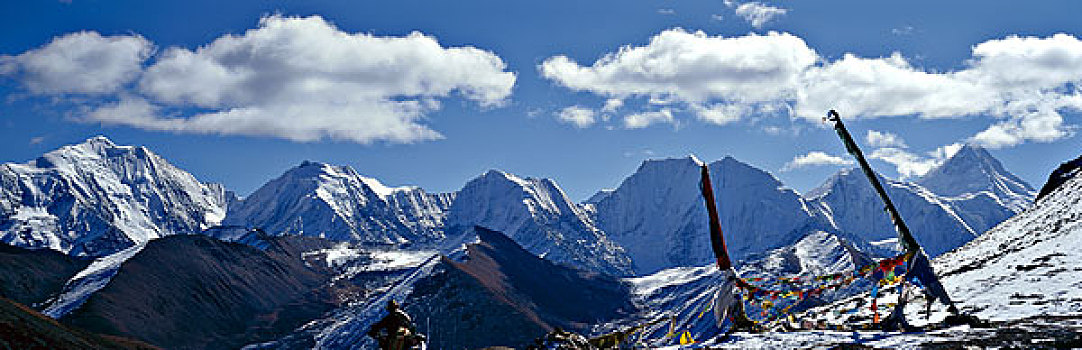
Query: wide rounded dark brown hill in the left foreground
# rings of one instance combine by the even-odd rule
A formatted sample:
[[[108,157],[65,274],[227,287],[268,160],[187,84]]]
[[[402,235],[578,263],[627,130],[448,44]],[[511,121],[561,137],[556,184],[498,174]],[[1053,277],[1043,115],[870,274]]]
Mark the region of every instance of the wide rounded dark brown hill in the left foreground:
[[[237,348],[276,338],[329,310],[329,275],[300,251],[317,238],[278,237],[266,250],[212,237],[150,242],[64,321],[172,349]]]

